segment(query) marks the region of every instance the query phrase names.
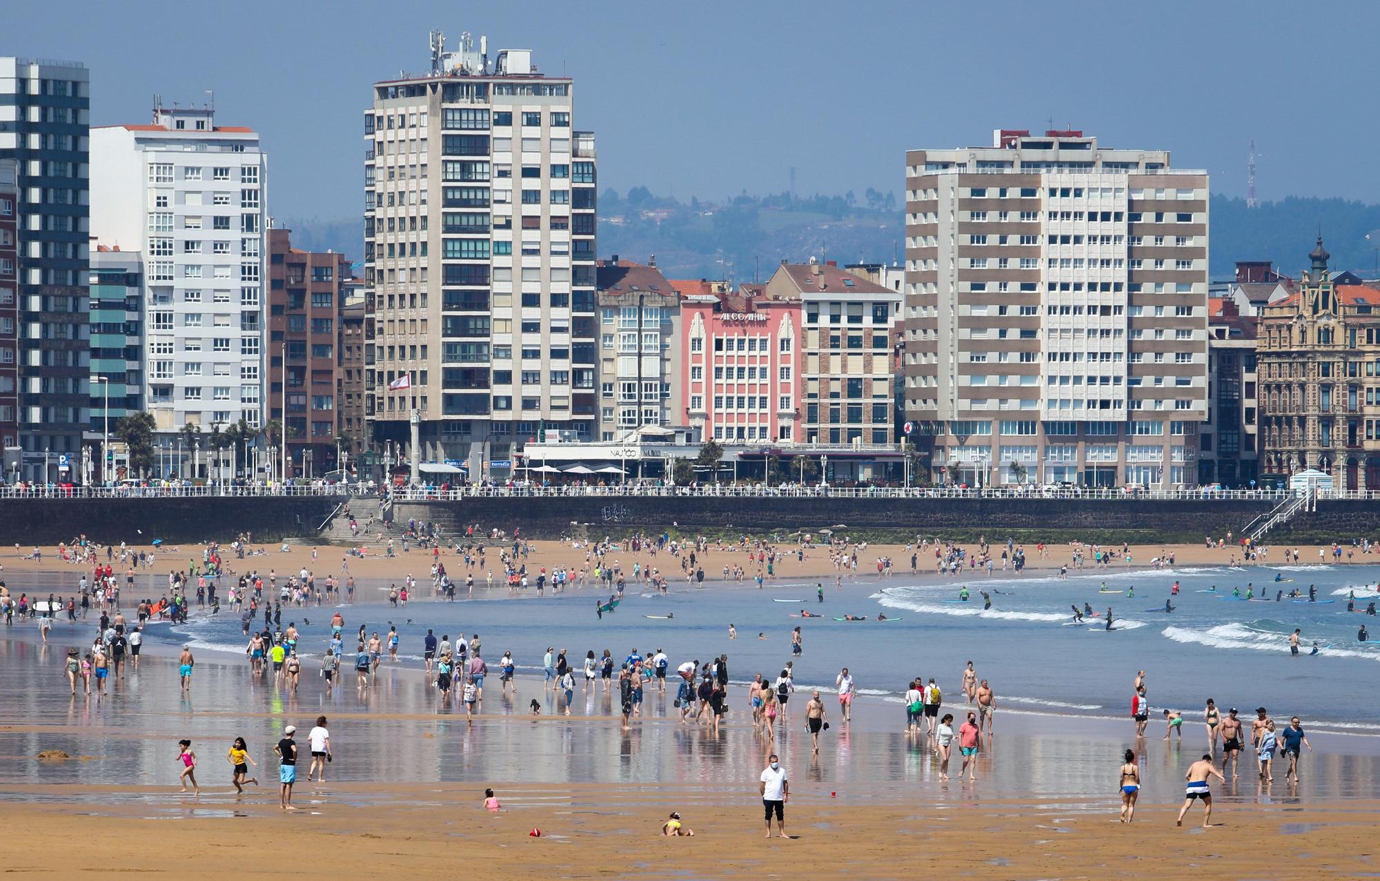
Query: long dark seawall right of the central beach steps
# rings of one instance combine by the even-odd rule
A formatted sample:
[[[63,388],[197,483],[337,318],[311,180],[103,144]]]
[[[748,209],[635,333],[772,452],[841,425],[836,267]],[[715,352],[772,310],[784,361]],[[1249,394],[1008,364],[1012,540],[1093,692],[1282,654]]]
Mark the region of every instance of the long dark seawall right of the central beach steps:
[[[1118,500],[1076,498],[789,498],[789,497],[562,497],[466,498],[461,501],[397,503],[395,522],[431,521],[448,533],[477,523],[553,539],[582,527],[591,537],[604,533],[806,530],[845,526],[849,530],[908,530],[912,534],[1086,533],[1101,540],[1201,541],[1224,536],[1274,507],[1268,500]],[[1372,505],[1377,508],[1376,505]],[[1319,515],[1325,505],[1319,505]],[[1370,514],[1374,519],[1374,511]],[[1361,523],[1365,515],[1350,515]]]

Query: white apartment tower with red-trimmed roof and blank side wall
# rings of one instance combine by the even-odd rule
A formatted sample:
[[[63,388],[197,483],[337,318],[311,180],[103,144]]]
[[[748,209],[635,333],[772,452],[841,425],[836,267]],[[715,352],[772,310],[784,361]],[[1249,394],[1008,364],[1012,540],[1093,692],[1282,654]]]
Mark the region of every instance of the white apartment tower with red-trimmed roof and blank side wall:
[[[157,431],[262,421],[265,185],[258,134],[214,109],[91,130],[91,231],[144,253],[145,389]]]

